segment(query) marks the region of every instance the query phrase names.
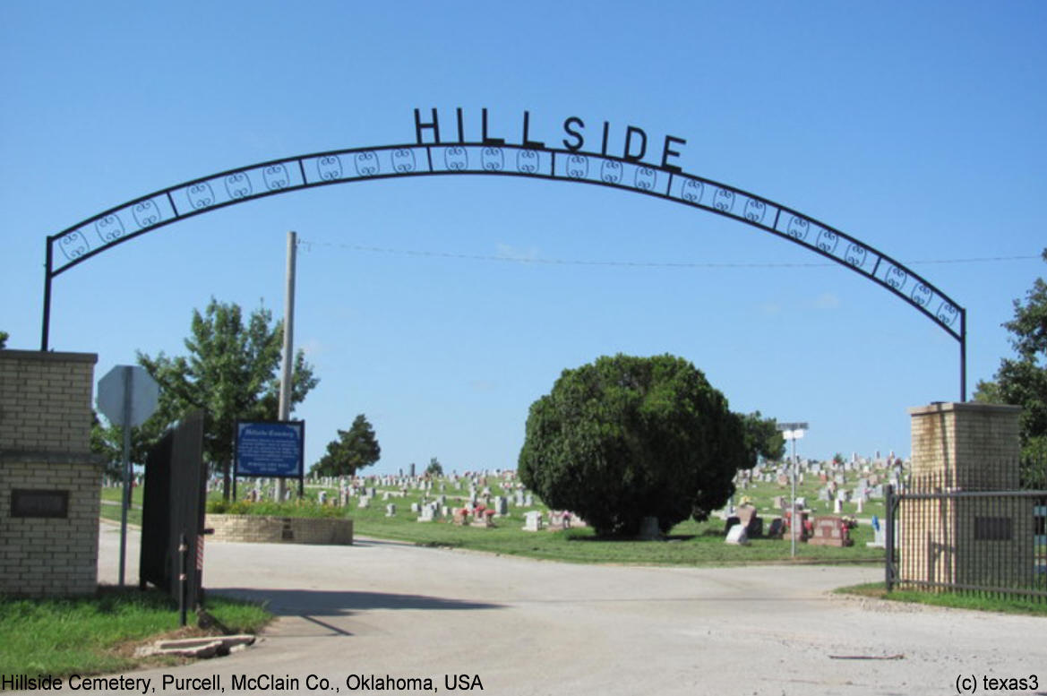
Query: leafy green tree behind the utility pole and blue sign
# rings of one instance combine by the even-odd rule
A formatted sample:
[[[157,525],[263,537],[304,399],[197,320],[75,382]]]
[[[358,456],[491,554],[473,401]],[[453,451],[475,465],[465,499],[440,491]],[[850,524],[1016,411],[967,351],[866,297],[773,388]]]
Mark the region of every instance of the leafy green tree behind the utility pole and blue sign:
[[[203,314],[193,311],[186,356],[156,358],[138,353],[138,362],[160,385],[153,419],[158,430],[196,408],[207,413],[204,456],[221,471],[222,496],[229,499],[236,422],[272,419],[280,400],[280,362],[283,322],[272,312],[254,310],[246,322],[239,305],[214,297]],[[305,354],[294,356],[291,404],[302,403],[319,382]],[[147,423],[149,430],[156,424]]]

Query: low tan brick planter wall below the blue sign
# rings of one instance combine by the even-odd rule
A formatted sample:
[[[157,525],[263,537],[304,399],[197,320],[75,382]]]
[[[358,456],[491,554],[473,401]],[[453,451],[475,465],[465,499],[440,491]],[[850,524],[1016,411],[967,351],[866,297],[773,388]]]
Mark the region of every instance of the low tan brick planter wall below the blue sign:
[[[208,514],[204,526],[215,530],[215,535],[208,541],[334,545],[353,543],[353,520],[333,517]]]

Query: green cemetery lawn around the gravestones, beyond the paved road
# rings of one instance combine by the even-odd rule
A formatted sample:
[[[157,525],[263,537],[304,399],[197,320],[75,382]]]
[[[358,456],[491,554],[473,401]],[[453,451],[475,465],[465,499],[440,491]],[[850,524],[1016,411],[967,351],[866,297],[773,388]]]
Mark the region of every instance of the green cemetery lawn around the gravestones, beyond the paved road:
[[[853,487],[862,474],[848,471],[845,486]],[[526,532],[525,514],[528,511],[540,511],[543,519],[549,519],[550,510],[541,500],[534,496],[532,506],[515,506],[514,493],[517,484],[511,476],[486,477],[487,485],[476,485],[480,494],[485,488],[490,490],[491,498],[503,496],[509,499],[509,514],[495,517],[492,527],[459,525],[451,522],[450,517],[438,518],[431,522],[420,522],[419,513],[411,512],[411,504],[433,502],[440,496],[445,496],[444,506],[451,509],[464,507],[468,502],[469,479],[465,476],[452,480],[449,477],[439,477],[431,480],[431,489],[425,490],[425,479],[400,479],[398,482],[386,477],[364,477],[363,486],[373,487],[376,495],[367,507],[359,507],[359,497],[349,496],[348,504],[337,503],[340,491],[335,481],[333,486],[306,484],[305,497],[299,502],[276,504],[261,500],[249,502],[240,499],[226,509],[221,503],[221,494],[208,494],[208,510],[227,510],[238,514],[270,514],[277,516],[332,516],[348,517],[353,520],[354,536],[376,539],[405,541],[422,546],[462,548],[492,554],[522,556],[529,558],[556,560],[573,563],[620,563],[639,565],[733,565],[747,563],[869,563],[884,562],[882,547],[868,546],[874,538],[872,518],[884,517],[884,501],[872,499],[864,504],[861,514],[856,513],[856,503],[844,502],[842,515],[855,518],[857,524],[850,531],[853,545],[846,547],[815,546],[798,543],[796,557],[792,555],[792,543],[786,535],[782,539],[756,538],[747,545],[725,543],[726,513],[720,511],[705,522],[686,520],[674,526],[664,541],[641,541],[637,539],[598,538],[592,529],[572,525],[567,530],[554,530],[547,526],[539,532]],[[388,482],[391,485],[383,485]],[[241,494],[252,488],[250,479],[242,479],[238,485]],[[807,501],[807,510],[812,517],[830,516],[833,514],[833,502],[819,500],[819,491],[824,485],[817,476],[808,474],[803,482],[797,485],[797,496]],[[442,489],[442,490],[441,490]],[[296,482],[294,484],[296,490]],[[318,504],[320,492],[325,493],[326,503]],[[141,487],[136,487],[132,494],[132,509],[128,520],[138,524],[141,520]],[[776,480],[753,481],[744,490],[738,486],[734,496],[735,504],[749,502],[756,507],[757,514],[763,518],[763,529],[780,516],[780,510],[774,506],[778,496],[788,500],[790,487],[782,486]],[[102,492],[102,516],[105,519],[119,521],[120,489],[104,488]],[[228,503],[227,503],[228,504]],[[386,507],[396,506],[396,514],[386,515]]]

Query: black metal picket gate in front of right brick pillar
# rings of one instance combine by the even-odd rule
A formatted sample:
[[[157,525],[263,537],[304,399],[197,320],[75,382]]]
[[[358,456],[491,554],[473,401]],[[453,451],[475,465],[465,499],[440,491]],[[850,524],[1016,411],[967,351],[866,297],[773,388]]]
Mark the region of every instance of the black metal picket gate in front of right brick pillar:
[[[1047,602],[1047,491],[959,491],[936,477],[887,488],[887,590]]]

